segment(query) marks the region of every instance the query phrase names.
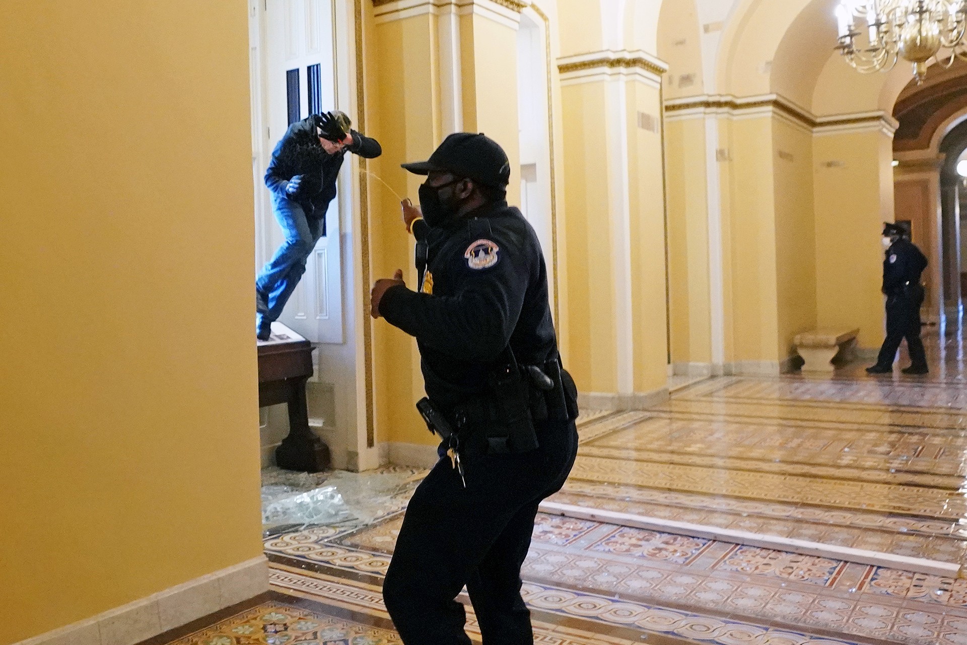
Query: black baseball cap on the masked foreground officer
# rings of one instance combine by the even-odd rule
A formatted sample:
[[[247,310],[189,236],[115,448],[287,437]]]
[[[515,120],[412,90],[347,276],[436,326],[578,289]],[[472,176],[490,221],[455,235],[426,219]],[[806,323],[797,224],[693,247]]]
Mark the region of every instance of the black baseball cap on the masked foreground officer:
[[[483,132],[454,132],[443,140],[426,161],[403,163],[415,175],[451,172],[495,189],[504,190],[511,181],[507,153]]]

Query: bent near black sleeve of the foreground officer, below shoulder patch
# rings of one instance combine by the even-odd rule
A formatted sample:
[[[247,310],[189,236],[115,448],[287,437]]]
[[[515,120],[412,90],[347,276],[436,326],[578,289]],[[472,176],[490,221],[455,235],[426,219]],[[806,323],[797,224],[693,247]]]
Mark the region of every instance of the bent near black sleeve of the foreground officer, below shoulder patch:
[[[379,311],[387,322],[425,346],[454,358],[489,362],[497,359],[516,327],[529,282],[530,266],[501,244],[498,261],[487,269],[454,267],[461,288],[453,296],[434,296],[394,286]],[[462,259],[462,258],[461,258]]]

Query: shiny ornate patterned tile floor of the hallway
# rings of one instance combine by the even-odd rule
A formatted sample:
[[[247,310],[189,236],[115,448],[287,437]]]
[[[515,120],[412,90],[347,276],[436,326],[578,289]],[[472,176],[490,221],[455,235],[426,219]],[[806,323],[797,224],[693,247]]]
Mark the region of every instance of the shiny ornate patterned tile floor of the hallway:
[[[933,344],[923,379],[855,364],[585,411],[571,480],[548,500],[571,516],[539,516],[523,569],[536,642],[967,645],[967,579],[913,566],[967,561],[963,344]],[[273,527],[281,593],[151,645],[398,642],[380,586],[407,490],[365,521]]]

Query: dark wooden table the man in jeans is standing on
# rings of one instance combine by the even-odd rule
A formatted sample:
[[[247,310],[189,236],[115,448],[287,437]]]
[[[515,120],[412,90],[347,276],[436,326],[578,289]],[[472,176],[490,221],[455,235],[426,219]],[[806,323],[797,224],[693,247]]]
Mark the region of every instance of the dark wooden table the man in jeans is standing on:
[[[312,344],[280,323],[258,341],[258,405],[286,403],[289,434],[276,449],[285,470],[318,473],[331,466],[329,447],[308,426],[306,381],[312,375]]]

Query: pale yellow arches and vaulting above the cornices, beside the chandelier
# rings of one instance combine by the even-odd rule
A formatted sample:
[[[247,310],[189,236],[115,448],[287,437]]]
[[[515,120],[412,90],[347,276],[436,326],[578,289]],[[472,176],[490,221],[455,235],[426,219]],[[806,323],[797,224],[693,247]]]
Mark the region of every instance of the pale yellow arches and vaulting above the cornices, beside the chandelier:
[[[834,49],[838,1],[557,0],[561,54],[658,55],[673,68],[669,98],[779,94],[817,116],[892,113],[910,66],[901,61],[873,74],[850,68]],[[694,76],[686,88],[682,75]],[[928,78],[936,75],[932,68]]]

